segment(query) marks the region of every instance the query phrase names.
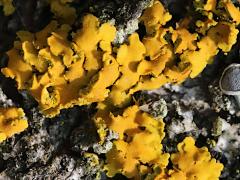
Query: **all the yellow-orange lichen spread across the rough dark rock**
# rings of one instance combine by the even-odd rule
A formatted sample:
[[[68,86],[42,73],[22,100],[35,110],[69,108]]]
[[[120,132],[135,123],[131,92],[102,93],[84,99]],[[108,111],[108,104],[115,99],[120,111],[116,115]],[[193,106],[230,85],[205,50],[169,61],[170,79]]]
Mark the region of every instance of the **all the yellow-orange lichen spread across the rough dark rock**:
[[[72,32],[73,41],[69,40],[77,17],[71,2],[49,0],[57,21],[37,33],[17,32],[18,39],[7,52],[8,66],[2,73],[15,79],[18,89],[30,91],[48,117],[74,105],[97,102],[94,120],[100,143],[104,142],[106,129],[119,134],[106,154],[109,177],[121,173],[139,179],[147,174],[158,174],[155,179],[218,179],[223,165],[211,158],[206,147],[197,148],[190,137],[178,145],[179,152],[171,155],[173,169],[168,170],[169,154],[163,152],[161,144],[163,121],[153,119],[136,105],[123,113],[115,110],[129,105],[137,91],[198,76],[219,50],[229,52],[238,35],[239,8],[230,0],[221,1],[231,22],[223,18],[217,22],[214,15],[218,1],[196,0],[195,10],[203,18],[196,17],[197,28],[193,31],[190,26],[195,19],[191,17],[175,27],[166,26],[171,14],[161,2],[154,1],[140,18],[146,35],[140,39],[133,33],[128,42],[113,47],[116,28],[101,24],[91,14],[83,17],[81,28]],[[11,8],[5,11],[12,13]],[[0,142],[27,128],[23,116],[21,109],[0,109]]]

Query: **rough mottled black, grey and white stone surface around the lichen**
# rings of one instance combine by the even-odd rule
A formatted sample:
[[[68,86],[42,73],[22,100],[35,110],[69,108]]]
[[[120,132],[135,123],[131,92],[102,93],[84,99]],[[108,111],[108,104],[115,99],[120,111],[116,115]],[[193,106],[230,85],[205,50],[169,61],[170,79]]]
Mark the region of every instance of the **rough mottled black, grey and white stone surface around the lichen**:
[[[117,27],[116,44],[126,40],[128,34],[139,30],[138,17],[152,0],[75,0],[78,15],[92,12],[102,21],[110,21]],[[189,0],[163,0],[173,22],[186,12]],[[3,16],[0,10],[0,66],[6,65],[3,51],[12,46],[19,29],[37,31],[46,25],[51,17],[49,7],[43,1],[14,1],[16,12]],[[237,4],[238,1],[235,1]],[[28,8],[28,7],[32,8]],[[25,11],[27,8],[28,11]],[[48,19],[49,18],[49,19]],[[81,19],[81,18],[79,18]],[[80,20],[79,20],[80,21]],[[172,22],[171,22],[172,23]],[[76,23],[73,28],[78,27]],[[223,69],[232,62],[238,62],[240,40],[228,56],[223,53],[214,64],[193,80],[182,85],[165,85],[151,92],[136,93],[135,100],[144,111],[156,118],[164,118],[166,136],[163,148],[176,152],[176,145],[186,136],[197,139],[198,146],[208,146],[212,155],[225,164],[223,179],[240,178],[239,110],[234,99],[224,95],[218,87]],[[238,62],[239,63],[239,62]],[[0,106],[22,107],[29,120],[29,128],[0,144],[0,179],[104,179],[102,163],[104,153],[112,147],[117,135],[108,130],[106,141],[99,144],[96,127],[91,117],[95,105],[74,107],[64,110],[54,119],[40,114],[36,102],[27,92],[18,92],[14,81],[0,74]],[[223,123],[219,123],[219,118]],[[231,150],[222,144],[231,141]],[[217,146],[214,147],[214,144]],[[231,151],[232,153],[229,153]],[[97,154],[99,164],[94,156]],[[119,179],[123,179],[122,176]]]

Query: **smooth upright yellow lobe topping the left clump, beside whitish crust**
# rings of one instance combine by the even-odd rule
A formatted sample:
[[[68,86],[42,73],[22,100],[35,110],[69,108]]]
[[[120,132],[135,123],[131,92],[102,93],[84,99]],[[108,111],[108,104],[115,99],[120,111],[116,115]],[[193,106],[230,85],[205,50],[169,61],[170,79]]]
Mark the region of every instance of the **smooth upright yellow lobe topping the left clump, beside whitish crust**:
[[[98,18],[91,14],[83,18],[82,26],[74,35],[75,49],[85,54],[85,70],[99,70],[102,66],[102,53],[98,51],[98,44],[102,50],[111,52],[111,42],[114,40],[116,29],[108,23],[100,26]]]

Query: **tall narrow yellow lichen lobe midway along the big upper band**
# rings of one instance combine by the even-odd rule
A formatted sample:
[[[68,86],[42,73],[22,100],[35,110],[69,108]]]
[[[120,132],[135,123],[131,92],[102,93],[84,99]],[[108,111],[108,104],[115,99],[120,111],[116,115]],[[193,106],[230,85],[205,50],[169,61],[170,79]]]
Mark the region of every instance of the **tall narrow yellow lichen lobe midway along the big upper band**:
[[[119,48],[117,62],[120,65],[121,76],[113,85],[109,95],[113,105],[123,106],[128,102],[130,95],[127,90],[139,80],[140,74],[137,72],[137,67],[145,52],[146,49],[136,33],[129,37],[129,45],[124,44]]]

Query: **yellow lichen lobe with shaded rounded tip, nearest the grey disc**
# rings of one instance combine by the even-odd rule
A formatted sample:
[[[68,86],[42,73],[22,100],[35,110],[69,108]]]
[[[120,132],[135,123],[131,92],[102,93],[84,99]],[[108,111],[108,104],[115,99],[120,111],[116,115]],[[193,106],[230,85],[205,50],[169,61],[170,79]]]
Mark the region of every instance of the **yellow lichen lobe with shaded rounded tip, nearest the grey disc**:
[[[218,53],[218,48],[224,52],[229,52],[233,44],[236,43],[238,30],[234,25],[218,23],[210,28],[207,36],[203,37],[198,43],[197,51],[184,51],[180,56],[182,62],[191,63],[191,78],[196,77]]]

